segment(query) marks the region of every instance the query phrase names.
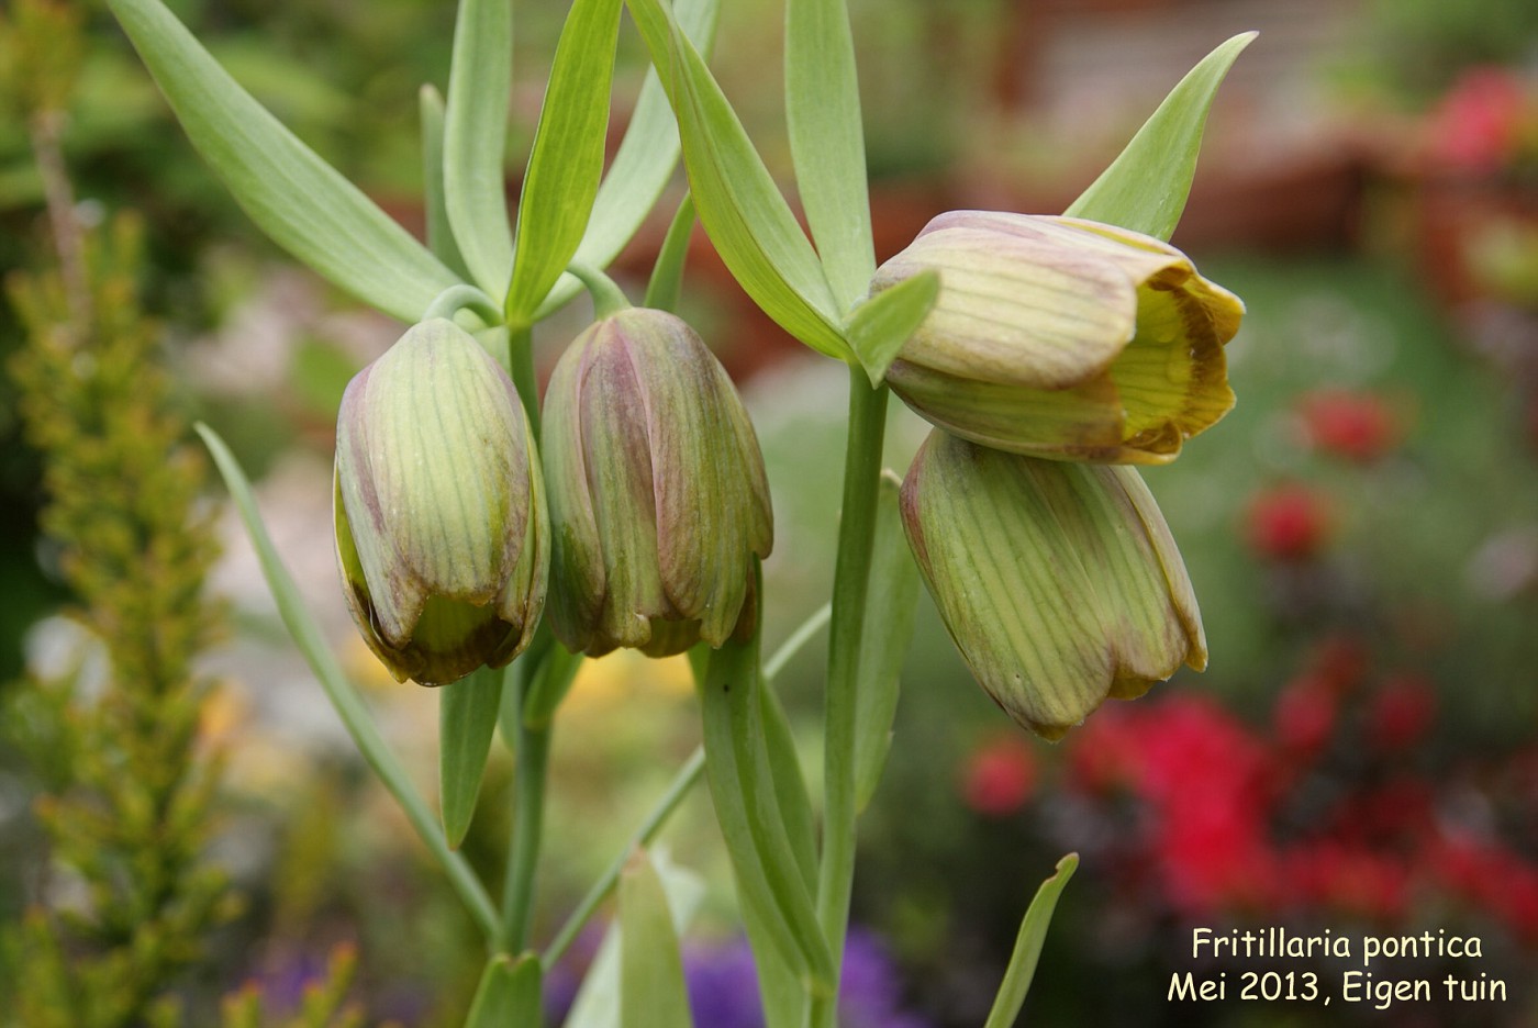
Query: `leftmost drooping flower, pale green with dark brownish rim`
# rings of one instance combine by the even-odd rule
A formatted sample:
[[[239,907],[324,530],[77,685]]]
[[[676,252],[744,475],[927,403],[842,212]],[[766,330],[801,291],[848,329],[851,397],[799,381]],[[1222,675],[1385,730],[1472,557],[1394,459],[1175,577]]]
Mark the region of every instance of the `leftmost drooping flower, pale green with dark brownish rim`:
[[[452,321],[414,326],[348,384],[335,529],[352,619],[397,681],[446,685],[534,636],[540,461],[512,380]]]

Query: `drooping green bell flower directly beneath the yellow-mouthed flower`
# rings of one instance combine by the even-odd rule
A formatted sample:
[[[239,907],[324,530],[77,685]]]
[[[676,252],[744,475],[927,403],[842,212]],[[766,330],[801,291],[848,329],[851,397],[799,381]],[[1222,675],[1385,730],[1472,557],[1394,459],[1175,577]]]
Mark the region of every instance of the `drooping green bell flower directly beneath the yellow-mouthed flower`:
[[[903,524],[972,675],[1015,721],[1061,738],[1107,696],[1207,664],[1164,516],[1129,467],[1040,461],[932,432]]]

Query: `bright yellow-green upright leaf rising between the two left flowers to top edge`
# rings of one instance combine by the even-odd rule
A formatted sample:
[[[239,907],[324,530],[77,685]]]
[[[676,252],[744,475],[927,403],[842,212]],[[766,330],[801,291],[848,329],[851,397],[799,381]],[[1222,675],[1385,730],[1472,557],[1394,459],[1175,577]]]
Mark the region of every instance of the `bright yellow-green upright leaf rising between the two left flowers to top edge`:
[[[508,320],[528,324],[566,270],[598,195],[621,0],[575,0],[555,45],[518,198]]]

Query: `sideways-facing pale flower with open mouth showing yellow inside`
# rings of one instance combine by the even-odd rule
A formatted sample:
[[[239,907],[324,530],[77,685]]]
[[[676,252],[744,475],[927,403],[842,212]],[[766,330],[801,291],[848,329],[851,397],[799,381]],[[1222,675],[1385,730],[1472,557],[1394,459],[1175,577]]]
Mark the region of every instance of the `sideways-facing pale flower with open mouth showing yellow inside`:
[[[1012,453],[1163,464],[1233,406],[1223,346],[1244,304],[1175,247],[1078,218],[952,211],[877,270],[940,272],[887,370],[909,407]]]

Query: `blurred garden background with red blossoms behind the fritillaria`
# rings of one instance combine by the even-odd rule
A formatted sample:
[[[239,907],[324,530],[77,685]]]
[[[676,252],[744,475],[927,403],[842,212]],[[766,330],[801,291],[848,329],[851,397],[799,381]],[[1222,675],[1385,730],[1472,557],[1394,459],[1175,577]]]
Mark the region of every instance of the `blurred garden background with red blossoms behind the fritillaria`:
[[[58,177],[46,160],[40,169],[38,152],[68,169],[85,223],[108,232],[120,212],[137,212],[138,249],[114,281],[140,297],[138,315],[154,326],[135,360],[163,369],[151,390],[155,424],[178,426],[146,438],[166,450],[201,418],[231,441],[306,598],[423,790],[437,790],[435,696],[395,685],[374,664],[351,630],[331,552],[337,401],[400,326],[255,234],[105,12],[82,8],[29,35],[35,6],[8,5],[11,51],[0,60],[0,72],[9,69],[0,74],[0,266],[12,283],[0,304],[0,360],[12,370],[0,376],[0,924],[9,939],[0,1008],[29,977],[26,939],[40,936],[28,933],[55,924],[28,911],[63,911],[66,925],[71,913],[100,920],[108,893],[97,887],[115,880],[89,861],[60,859],[71,850],[58,804],[122,817],[137,810],[111,799],[109,773],[71,765],[89,762],[83,733],[126,731],[80,715],[123,687],[125,672],[109,659],[122,618],[100,615],[102,602],[118,607],[80,570],[82,526],[97,521],[89,507],[74,519],[57,513],[60,489],[91,492],[95,450],[46,429],[54,407],[105,409],[91,392],[100,383],[89,384],[102,372],[83,370],[91,358],[80,353],[40,363],[31,293],[14,284],[69,278],[68,260],[55,267],[45,214]],[[300,137],[420,232],[417,89],[446,85],[451,3],[171,6]],[[712,66],[784,181],[780,6],[723,8]],[[564,5],[517,9],[511,197],[563,14]],[[1078,851],[1029,1023],[1538,1025],[1538,6],[854,0],[852,15],[880,257],[943,211],[1061,211],[1186,69],[1235,32],[1261,35],[1218,95],[1175,237],[1249,306],[1229,347],[1238,407],[1178,463],[1146,475],[1201,599],[1210,667],[1112,702],[1049,745],[994,708],[923,598],[887,776],[861,824],[847,1023],[980,1025],[1032,891],[1063,853]],[[617,134],[644,72],[629,29],[620,60]],[[71,61],[77,75],[54,97],[57,117],[38,117],[46,104],[28,89]],[[632,295],[672,203],[660,209],[617,269]],[[772,650],[827,596],[843,370],[758,315],[703,232],[694,244],[681,313],[737,376],[769,464]],[[544,370],[586,323],[580,304],[544,326]],[[86,384],[71,393],[71,376]],[[138,386],[122,393],[148,395]],[[51,400],[58,395],[72,406]],[[894,406],[887,463],[901,473],[926,426]],[[125,415],[98,427],[122,439],[138,424]],[[143,459],[155,464],[154,453]],[[74,478],[60,478],[58,466]],[[54,475],[48,487],[45,475]],[[351,996],[369,1023],[458,1023],[480,970],[474,927],[289,645],[223,490],[203,472],[188,475],[180,515],[220,555],[194,569],[205,599],[183,601],[217,624],[189,630],[191,691],[175,693],[183,728],[166,759],[212,782],[185,856],[221,885],[197,930],[183,931],[191,948],[163,962],[166,980],[191,1023],[212,1023],[218,997],[241,988],[281,1016],[306,982],[326,977],[335,953],[355,953]],[[122,506],[138,502],[132,482],[123,495]],[[140,536],[125,539],[135,552]],[[201,624],[205,615],[188,610]],[[780,679],[807,767],[820,754],[820,650],[809,647]],[[591,662],[555,739],[540,939],[698,741],[687,668],[623,653]],[[137,767],[129,758],[118,773]],[[511,758],[497,747],[466,842],[488,873],[506,851],[509,778]],[[751,971],[712,831],[700,793],[663,839],[709,882],[687,957],[701,1028],[747,1026],[757,1023],[743,988]],[[100,837],[77,839],[77,850]],[[134,845],[155,844],[125,842],[123,853]],[[161,882],[171,894],[185,887],[178,874]],[[1338,988],[1332,962],[1192,960],[1193,925],[1478,936],[1478,960],[1433,956],[1383,974],[1483,973],[1509,994],[1390,1011],[1167,1002],[1172,973],[1184,971],[1227,971],[1230,996],[1246,970],[1315,970],[1326,991]],[[62,960],[85,960],[118,936],[68,943]],[[595,945],[595,934],[584,937],[552,976],[557,1010]],[[0,1025],[8,1014],[0,1010]]]

